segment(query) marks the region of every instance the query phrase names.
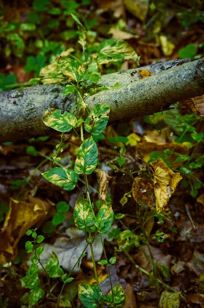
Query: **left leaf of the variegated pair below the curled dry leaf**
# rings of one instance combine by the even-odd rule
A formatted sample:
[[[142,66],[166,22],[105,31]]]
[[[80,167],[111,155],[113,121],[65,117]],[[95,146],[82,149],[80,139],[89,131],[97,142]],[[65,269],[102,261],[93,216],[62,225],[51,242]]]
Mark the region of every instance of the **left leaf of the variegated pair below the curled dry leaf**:
[[[91,205],[82,194],[79,195],[74,207],[74,222],[78,229],[90,227],[95,222]]]

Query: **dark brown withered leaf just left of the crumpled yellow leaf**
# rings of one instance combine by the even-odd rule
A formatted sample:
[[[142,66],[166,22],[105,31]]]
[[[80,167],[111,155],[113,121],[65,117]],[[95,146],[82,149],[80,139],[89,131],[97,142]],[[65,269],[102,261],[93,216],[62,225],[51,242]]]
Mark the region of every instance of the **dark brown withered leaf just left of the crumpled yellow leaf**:
[[[142,199],[146,205],[149,207],[153,203],[153,183],[147,179],[141,179],[139,177],[135,178],[132,185],[132,196],[136,202],[140,202]]]

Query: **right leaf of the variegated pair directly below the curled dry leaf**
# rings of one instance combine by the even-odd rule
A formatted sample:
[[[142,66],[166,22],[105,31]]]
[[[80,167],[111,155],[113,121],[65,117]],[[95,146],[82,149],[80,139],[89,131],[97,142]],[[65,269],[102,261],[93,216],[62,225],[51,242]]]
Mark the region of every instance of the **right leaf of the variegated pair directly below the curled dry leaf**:
[[[113,223],[114,213],[111,205],[103,204],[96,216],[96,226],[100,233],[107,233]]]

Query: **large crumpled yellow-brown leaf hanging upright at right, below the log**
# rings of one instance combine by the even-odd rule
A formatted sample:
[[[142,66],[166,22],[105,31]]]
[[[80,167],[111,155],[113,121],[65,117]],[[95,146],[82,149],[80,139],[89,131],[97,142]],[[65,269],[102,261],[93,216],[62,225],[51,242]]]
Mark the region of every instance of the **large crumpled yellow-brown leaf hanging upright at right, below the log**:
[[[156,211],[168,210],[168,201],[182,179],[179,172],[173,172],[161,158],[152,163],[154,167],[154,194],[156,197]]]

